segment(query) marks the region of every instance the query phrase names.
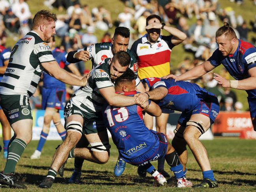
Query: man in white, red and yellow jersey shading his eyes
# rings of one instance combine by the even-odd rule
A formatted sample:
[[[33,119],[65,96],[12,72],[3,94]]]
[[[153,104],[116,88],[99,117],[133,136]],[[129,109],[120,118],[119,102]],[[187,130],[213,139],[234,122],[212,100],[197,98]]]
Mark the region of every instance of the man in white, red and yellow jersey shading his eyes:
[[[136,56],[138,62],[138,76],[140,79],[152,76],[162,77],[170,73],[170,54],[172,48],[186,39],[186,34],[180,30],[166,26],[158,15],[149,15],[146,19],[147,34],[133,43],[131,52]],[[170,35],[162,36],[161,29]],[[156,128],[158,132],[166,134],[166,123],[169,112],[163,111],[160,117],[156,117]],[[146,127],[153,129],[153,117],[145,114]],[[165,176],[170,177],[164,171],[164,158],[158,159],[158,170]],[[138,168],[140,176],[145,176]]]

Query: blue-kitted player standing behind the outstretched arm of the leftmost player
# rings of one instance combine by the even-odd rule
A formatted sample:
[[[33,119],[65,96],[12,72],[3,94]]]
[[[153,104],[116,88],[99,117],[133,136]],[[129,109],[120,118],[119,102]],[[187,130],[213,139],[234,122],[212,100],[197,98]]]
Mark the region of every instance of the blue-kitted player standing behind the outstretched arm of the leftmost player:
[[[50,43],[48,43],[52,50],[52,55],[59,63],[60,67],[64,69],[65,66],[74,73],[80,76],[78,69],[75,64],[66,61],[67,52],[61,50],[60,48],[54,47],[55,38],[52,37]],[[42,89],[42,109],[45,110],[43,130],[40,135],[40,140],[37,145],[36,151],[31,155],[31,159],[40,158],[43,145],[47,139],[50,131],[50,122],[53,121],[56,129],[64,141],[66,136],[66,130],[64,129],[62,123],[60,122],[59,110],[63,110],[65,107],[65,96],[66,96],[66,86],[63,82],[57,80],[56,78],[43,72],[43,89]]]

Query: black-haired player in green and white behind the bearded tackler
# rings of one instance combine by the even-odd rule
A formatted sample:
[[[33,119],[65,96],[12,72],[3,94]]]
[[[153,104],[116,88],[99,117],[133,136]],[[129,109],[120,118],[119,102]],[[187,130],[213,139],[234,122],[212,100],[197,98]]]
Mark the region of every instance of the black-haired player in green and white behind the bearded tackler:
[[[137,60],[133,56],[132,52],[128,49],[130,31],[126,27],[117,27],[112,37],[111,43],[96,43],[83,49],[69,52],[67,55],[67,62],[77,63],[81,60],[92,60],[92,68],[103,62],[106,58],[112,58],[115,53],[119,51],[126,51],[131,56],[131,63],[129,68],[133,72],[138,71]],[[86,58],[86,59],[85,59]],[[145,89],[140,79],[136,78],[136,88],[139,92],[144,93]],[[77,147],[84,147],[84,142],[79,142]],[[75,170],[73,171],[72,177],[69,179],[69,183],[78,182],[81,175],[83,159],[75,158]],[[114,168],[114,175],[120,176],[125,170],[125,161],[118,157],[116,166]],[[64,169],[59,170],[60,175],[63,175]]]

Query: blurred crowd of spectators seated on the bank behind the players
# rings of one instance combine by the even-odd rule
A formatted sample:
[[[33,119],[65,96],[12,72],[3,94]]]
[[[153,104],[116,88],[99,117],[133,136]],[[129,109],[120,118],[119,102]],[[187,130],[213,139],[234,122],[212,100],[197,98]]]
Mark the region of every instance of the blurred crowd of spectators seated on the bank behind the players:
[[[256,0],[252,0],[256,6]],[[217,48],[215,32],[220,23],[228,22],[243,41],[248,41],[248,33],[256,32],[256,15],[247,23],[241,15],[235,14],[232,7],[221,7],[218,0],[122,0],[125,4],[117,18],[112,18],[111,11],[104,6],[90,9],[88,4],[81,4],[79,0],[45,0],[44,5],[52,9],[64,11],[58,15],[56,22],[56,35],[60,37],[60,47],[69,52],[98,42],[111,42],[110,28],[124,26],[130,29],[131,37],[129,48],[133,42],[146,34],[146,18],[151,14],[159,15],[166,24],[176,26],[187,35],[183,42],[186,52],[192,57],[186,57],[178,64],[171,66],[171,73],[182,74],[192,67],[207,60]],[[230,0],[234,6],[243,4],[243,0]],[[0,0],[0,45],[6,45],[8,35],[18,34],[19,37],[30,31],[32,14],[26,0]],[[192,24],[189,20],[196,19]],[[249,27],[248,27],[249,26]],[[95,30],[103,30],[105,34],[101,39],[95,36]],[[14,35],[15,37],[15,35]],[[17,40],[17,39],[15,39]],[[250,43],[256,44],[256,39]],[[84,62],[77,63],[81,74],[88,73]],[[220,75],[230,78],[228,72],[222,69]],[[196,84],[215,93],[224,111],[240,112],[243,108],[241,102],[230,88],[223,89],[213,79],[209,72],[202,78],[193,80]],[[67,91],[70,94],[72,91]],[[39,104],[39,91],[32,98]]]

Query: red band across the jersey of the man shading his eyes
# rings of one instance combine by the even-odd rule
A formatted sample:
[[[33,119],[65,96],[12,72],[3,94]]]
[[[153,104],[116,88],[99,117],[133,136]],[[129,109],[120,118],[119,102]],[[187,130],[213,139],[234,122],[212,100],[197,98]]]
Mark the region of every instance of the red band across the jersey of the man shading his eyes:
[[[138,56],[138,67],[152,67],[170,62],[170,50]]]

